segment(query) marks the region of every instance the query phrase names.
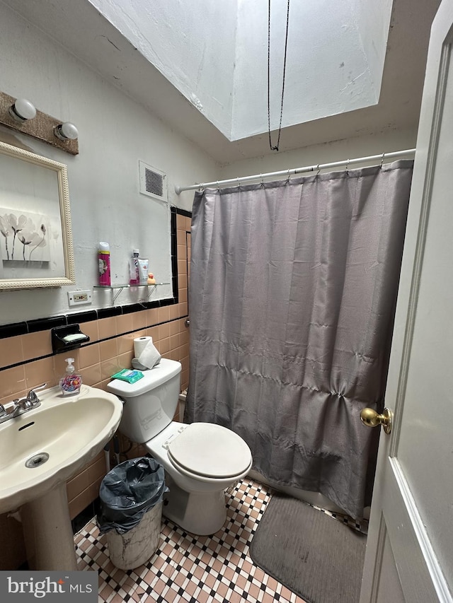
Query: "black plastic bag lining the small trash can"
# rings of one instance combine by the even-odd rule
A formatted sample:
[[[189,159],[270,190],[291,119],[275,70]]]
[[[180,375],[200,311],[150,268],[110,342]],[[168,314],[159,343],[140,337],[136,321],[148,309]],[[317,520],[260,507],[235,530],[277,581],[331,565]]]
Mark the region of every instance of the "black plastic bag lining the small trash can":
[[[161,502],[165,492],[168,488],[164,467],[156,459],[139,457],[118,464],[105,475],[99,488],[99,532],[129,532],[149,509]]]

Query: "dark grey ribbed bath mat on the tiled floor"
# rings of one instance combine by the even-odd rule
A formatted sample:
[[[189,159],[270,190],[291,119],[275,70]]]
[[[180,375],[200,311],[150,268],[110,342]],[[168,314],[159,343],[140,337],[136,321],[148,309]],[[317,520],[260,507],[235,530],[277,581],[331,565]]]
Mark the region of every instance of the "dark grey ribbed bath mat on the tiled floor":
[[[296,498],[274,494],[250,545],[258,567],[306,603],[357,603],[367,537]]]

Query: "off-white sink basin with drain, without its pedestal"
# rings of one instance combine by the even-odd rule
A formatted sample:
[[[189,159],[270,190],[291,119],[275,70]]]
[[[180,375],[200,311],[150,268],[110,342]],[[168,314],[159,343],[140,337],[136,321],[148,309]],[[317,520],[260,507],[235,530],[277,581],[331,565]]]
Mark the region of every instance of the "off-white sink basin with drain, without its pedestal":
[[[0,425],[0,513],[66,482],[102,450],[120,423],[120,400],[88,385],[71,397],[59,387],[39,397],[37,409]]]

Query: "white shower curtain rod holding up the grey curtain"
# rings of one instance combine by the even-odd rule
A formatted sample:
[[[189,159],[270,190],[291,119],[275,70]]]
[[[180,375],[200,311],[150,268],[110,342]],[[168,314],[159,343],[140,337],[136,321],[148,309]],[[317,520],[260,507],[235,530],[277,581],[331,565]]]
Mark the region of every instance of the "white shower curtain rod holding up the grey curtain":
[[[380,155],[370,155],[369,157],[358,157],[355,159],[343,159],[341,161],[333,161],[332,163],[318,163],[317,165],[307,165],[305,168],[292,168],[290,170],[282,170],[280,172],[268,172],[267,174],[256,174],[254,176],[241,176],[239,178],[229,178],[229,180],[215,180],[214,182],[200,182],[197,185],[189,187],[175,187],[176,194],[183,191],[193,191],[196,189],[205,189],[208,187],[217,187],[221,185],[241,184],[241,182],[250,182],[251,180],[263,180],[268,177],[290,176],[292,174],[302,174],[303,172],[314,172],[315,170],[325,170],[326,168],[340,168],[342,165],[352,165],[353,163],[362,163],[364,161],[378,161],[383,163],[385,159],[396,159],[405,155],[413,155],[415,148],[407,148],[406,151],[391,151],[390,153],[381,153]]]

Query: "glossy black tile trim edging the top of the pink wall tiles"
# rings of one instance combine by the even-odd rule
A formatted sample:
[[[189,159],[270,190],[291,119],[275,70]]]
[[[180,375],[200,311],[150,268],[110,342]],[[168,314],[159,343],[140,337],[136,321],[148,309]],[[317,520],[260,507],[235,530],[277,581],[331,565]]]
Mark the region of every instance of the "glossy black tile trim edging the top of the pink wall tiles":
[[[192,217],[192,212],[185,209],[180,209],[171,206],[171,271],[173,286],[173,298],[162,300],[147,301],[142,303],[133,303],[125,305],[117,305],[109,308],[98,308],[94,310],[84,310],[83,312],[74,312],[66,315],[51,316],[46,318],[38,318],[34,320],[24,320],[23,322],[12,322],[11,324],[0,324],[0,340],[17,335],[25,335],[27,333],[37,333],[40,331],[49,331],[53,327],[63,327],[66,324],[77,324],[98,320],[100,318],[108,318],[120,316],[123,314],[131,314],[132,312],[140,312],[142,310],[150,310],[151,308],[162,308],[167,305],[178,303],[178,256],[177,256],[177,238],[176,238],[176,216]],[[183,318],[183,317],[178,317]]]

